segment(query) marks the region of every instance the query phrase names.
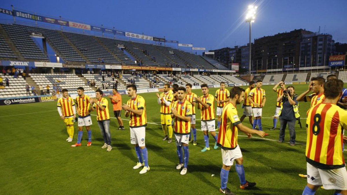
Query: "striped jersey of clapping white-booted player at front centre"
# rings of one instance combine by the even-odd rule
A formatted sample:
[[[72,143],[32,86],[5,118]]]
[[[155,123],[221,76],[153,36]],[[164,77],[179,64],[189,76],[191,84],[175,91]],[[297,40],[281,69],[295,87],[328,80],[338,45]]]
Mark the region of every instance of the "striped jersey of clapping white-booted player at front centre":
[[[188,102],[187,100],[184,100],[183,102],[176,101],[174,105],[172,105],[172,108],[177,110],[177,113],[181,116],[185,117],[192,117],[192,104]],[[178,117],[175,117],[175,134],[189,134],[191,132],[191,121],[185,121]]]

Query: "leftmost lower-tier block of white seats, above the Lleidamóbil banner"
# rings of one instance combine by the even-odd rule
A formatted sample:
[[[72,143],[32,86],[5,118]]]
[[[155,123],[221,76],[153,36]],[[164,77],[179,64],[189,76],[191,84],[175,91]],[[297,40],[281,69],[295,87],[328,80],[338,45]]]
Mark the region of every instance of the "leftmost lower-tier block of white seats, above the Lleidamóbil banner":
[[[0,98],[6,97],[23,97],[27,96],[25,85],[28,83],[22,76],[18,76],[18,78],[14,78],[13,76],[6,76],[0,73],[3,78],[3,85],[6,86],[5,79],[9,79],[9,86],[6,86],[4,89],[0,89]],[[30,90],[30,95],[32,95]]]

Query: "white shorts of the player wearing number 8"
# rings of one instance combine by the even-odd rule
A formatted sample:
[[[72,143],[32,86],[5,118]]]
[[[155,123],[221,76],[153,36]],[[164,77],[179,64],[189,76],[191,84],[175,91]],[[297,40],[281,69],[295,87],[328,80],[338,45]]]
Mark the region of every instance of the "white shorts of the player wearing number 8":
[[[319,169],[310,163],[307,164],[307,183],[320,186],[324,189],[347,190],[346,167],[339,169]]]

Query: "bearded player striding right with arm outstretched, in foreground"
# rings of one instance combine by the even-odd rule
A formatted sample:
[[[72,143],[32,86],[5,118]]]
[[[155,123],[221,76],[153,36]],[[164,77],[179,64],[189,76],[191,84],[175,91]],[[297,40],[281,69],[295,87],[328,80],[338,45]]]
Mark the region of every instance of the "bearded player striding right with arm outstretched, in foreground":
[[[237,143],[238,129],[247,134],[251,138],[251,134],[257,134],[264,137],[265,132],[250,129],[242,124],[237,115],[236,105],[244,100],[245,91],[240,87],[233,87],[230,90],[230,101],[224,106],[222,113],[222,121],[218,134],[218,146],[221,147],[223,166],[220,171],[221,187],[219,191],[223,194],[232,195],[229,188],[227,188],[229,170],[236,161],[236,172],[240,179],[240,188],[253,187],[256,183],[248,182],[245,178],[245,171],[243,168],[243,157],[240,146]]]

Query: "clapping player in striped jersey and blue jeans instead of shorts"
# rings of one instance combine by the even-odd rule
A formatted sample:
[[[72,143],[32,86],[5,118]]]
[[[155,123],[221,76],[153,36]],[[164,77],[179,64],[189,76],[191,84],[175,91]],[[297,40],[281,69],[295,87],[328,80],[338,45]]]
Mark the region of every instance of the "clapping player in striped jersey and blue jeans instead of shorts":
[[[96,109],[96,120],[101,131],[102,138],[104,139],[104,145],[102,149],[107,148],[106,151],[111,151],[111,132],[110,132],[110,113],[108,110],[108,101],[106,98],[102,97],[103,92],[101,90],[95,91],[95,97],[91,98],[94,102],[92,110]]]

